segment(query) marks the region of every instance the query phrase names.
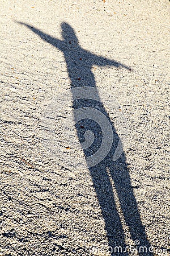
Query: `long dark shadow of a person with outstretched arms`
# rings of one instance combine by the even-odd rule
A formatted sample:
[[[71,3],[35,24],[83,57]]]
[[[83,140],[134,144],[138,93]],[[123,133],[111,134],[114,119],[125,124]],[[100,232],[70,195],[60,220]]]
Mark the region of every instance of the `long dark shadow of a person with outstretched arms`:
[[[45,34],[41,30],[30,26],[29,24],[21,22],[18,23],[26,26],[35,34],[39,35],[42,40],[63,52],[67,64],[67,72],[71,80],[70,89],[71,92],[73,92],[73,112],[75,121],[77,121],[75,110],[82,107],[88,107],[97,110],[100,109],[100,112],[105,115],[112,126],[113,143],[111,150],[109,150],[107,156],[105,156],[100,163],[89,167],[97,199],[99,200],[101,212],[105,221],[105,230],[107,231],[109,249],[113,255],[130,255],[129,252],[126,251],[126,246],[128,245],[126,245],[125,242],[125,232],[122,227],[121,218],[118,214],[114,198],[115,193],[113,193],[111,183],[111,179],[113,179],[114,189],[116,190],[126,225],[129,227],[131,239],[134,241],[134,245],[141,246],[141,251],[139,251],[138,246],[138,254],[141,256],[153,255],[153,253],[148,250],[150,243],[147,240],[145,227],[141,222],[124,152],[116,161],[113,162],[112,160],[120,138],[118,137],[116,129],[114,128],[114,125],[100,100],[99,93],[96,89],[94,97],[95,100],[88,98],[76,98],[74,94],[74,88],[82,86],[96,88],[95,76],[92,72],[93,65],[98,65],[100,67],[114,66],[117,68],[125,68],[127,70],[130,70],[130,68],[118,61],[97,56],[80,47],[73,28],[67,23],[61,24],[63,40],[59,40],[53,36]],[[94,120],[88,118],[83,118],[76,122],[75,127],[80,143],[84,143],[84,134],[87,130],[91,130],[94,133],[94,143],[92,143],[88,148],[83,147],[84,156],[88,158],[101,146],[103,140],[101,127]]]

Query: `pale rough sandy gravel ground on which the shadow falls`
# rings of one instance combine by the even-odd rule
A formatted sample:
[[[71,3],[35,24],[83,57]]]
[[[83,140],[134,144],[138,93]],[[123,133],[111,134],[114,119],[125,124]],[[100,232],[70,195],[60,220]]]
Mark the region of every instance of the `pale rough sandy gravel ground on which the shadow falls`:
[[[169,255],[169,1],[1,0],[0,19],[0,255],[111,255],[125,245],[154,252],[115,255]],[[83,63],[87,51],[103,59],[87,57],[75,70],[87,71],[101,102],[116,98],[129,126],[116,165],[88,168],[60,123],[62,150],[43,143],[46,108],[70,92],[75,58]],[[71,103],[63,100],[67,120]]]

